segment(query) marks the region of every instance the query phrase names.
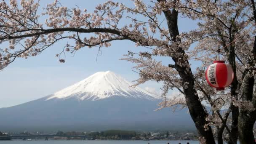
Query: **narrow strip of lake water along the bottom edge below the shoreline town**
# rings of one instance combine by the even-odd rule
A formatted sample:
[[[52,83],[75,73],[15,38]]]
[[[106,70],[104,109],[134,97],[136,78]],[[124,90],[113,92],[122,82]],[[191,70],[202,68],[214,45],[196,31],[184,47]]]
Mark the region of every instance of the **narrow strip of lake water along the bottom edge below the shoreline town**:
[[[198,141],[107,141],[107,140],[32,140],[32,141],[22,141],[22,140],[12,140],[12,141],[0,141],[0,144],[199,144]]]

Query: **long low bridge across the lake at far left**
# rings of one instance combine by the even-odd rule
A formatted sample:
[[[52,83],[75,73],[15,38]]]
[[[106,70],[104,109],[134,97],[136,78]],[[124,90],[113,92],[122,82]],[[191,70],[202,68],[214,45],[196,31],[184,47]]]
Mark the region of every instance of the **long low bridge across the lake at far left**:
[[[71,138],[71,137],[80,137],[83,139],[94,139],[95,137],[92,136],[85,136],[85,135],[20,135],[20,136],[0,136],[0,140],[1,139],[16,139],[16,138],[21,138],[21,139],[29,139],[29,138],[39,138],[39,137],[44,137],[45,140],[48,140],[48,138],[52,138],[52,137],[67,137],[67,138]]]

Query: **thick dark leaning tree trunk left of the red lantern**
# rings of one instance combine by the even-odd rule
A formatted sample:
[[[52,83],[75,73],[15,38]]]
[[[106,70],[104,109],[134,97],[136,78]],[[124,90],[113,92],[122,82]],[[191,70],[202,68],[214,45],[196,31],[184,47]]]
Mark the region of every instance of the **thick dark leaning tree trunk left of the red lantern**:
[[[166,0],[157,0],[157,1],[166,2]],[[174,0],[173,3],[176,3],[176,1],[177,0]],[[179,39],[178,40],[176,39],[176,37],[179,36],[178,11],[176,11],[173,8],[172,10],[163,11],[163,13],[165,14],[165,17],[166,17],[168,30],[169,30],[172,42],[174,43],[176,43],[177,41],[180,42]],[[193,79],[191,68],[189,66],[186,67],[186,66],[180,66],[179,64],[177,64],[177,62],[189,64],[184,54],[185,54],[185,51],[179,47],[176,51],[176,55],[172,56],[172,59],[175,62],[175,69],[179,72],[183,85],[188,86],[188,87],[183,86],[183,89],[184,89],[184,96],[187,102],[187,106],[189,108],[189,113],[192,117],[192,120],[195,123],[195,126],[200,136],[205,139],[206,144],[215,144],[211,126],[208,126],[207,129],[205,129],[204,127],[205,124],[207,124],[207,121],[205,120],[205,118],[208,116],[208,114],[203,109],[203,106],[197,95],[197,91],[194,88],[195,81]]]

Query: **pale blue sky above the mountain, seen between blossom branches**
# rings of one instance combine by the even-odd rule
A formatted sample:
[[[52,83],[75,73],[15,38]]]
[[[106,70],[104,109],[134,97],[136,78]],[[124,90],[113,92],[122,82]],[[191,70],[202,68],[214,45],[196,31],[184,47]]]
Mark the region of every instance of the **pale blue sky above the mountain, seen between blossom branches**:
[[[97,4],[106,2],[106,0],[59,1],[68,8],[77,5],[82,10],[86,8],[88,12],[93,12]],[[41,0],[40,11],[43,7],[46,7],[47,3],[52,2],[53,0]],[[118,0],[118,2],[133,6],[131,0]],[[40,20],[41,23],[44,23],[44,17]],[[124,24],[125,20],[122,22]],[[195,27],[196,21],[179,18],[179,29],[181,32],[189,31]],[[36,57],[17,59],[0,72],[0,107],[10,107],[47,96],[99,71],[110,70],[129,81],[135,80],[138,77],[138,74],[132,71],[134,64],[119,60],[128,51],[139,51],[141,49],[141,47],[135,47],[135,44],[132,42],[113,42],[111,47],[101,49],[102,54],[98,57],[97,61],[98,49],[85,47],[77,51],[74,57],[67,56],[65,63],[60,63],[55,55],[61,51],[66,43],[67,41],[56,43]],[[166,65],[172,62],[170,58],[161,58],[161,60]],[[195,61],[191,62],[192,65],[198,65]],[[193,66],[193,69],[195,69],[195,66]],[[161,83],[149,82],[140,87],[149,87],[152,90],[159,91]]]

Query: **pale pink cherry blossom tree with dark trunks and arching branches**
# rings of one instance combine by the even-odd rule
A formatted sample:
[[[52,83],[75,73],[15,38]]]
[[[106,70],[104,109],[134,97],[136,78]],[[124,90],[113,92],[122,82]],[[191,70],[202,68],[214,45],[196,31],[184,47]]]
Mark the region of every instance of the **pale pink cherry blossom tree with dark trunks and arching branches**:
[[[256,120],[256,8],[254,0],[152,0],[145,4],[133,0],[130,8],[108,1],[93,13],[67,8],[57,0],[37,13],[39,3],[33,0],[9,0],[0,3],[0,69],[14,60],[37,56],[61,40],[75,43],[63,45],[56,54],[60,62],[66,53],[81,48],[111,46],[115,40],[128,40],[147,51],[128,51],[123,60],[136,64],[139,73],[135,85],[149,80],[163,82],[159,104],[164,107],[189,109],[202,144],[254,144]],[[44,23],[39,18],[47,17]],[[144,19],[140,19],[141,16]],[[198,27],[181,33],[178,17],[197,20]],[[130,23],[120,24],[122,19]],[[164,23],[164,24],[163,24]],[[195,43],[195,47],[191,44]],[[157,57],[169,57],[165,66]],[[232,66],[234,80],[225,91],[211,88],[204,78],[205,70],[216,59]],[[201,64],[195,71],[189,61]],[[168,91],[180,95],[168,99]],[[207,107],[205,107],[207,106]],[[208,107],[211,107],[210,109]],[[225,109],[225,110],[224,110]]]

